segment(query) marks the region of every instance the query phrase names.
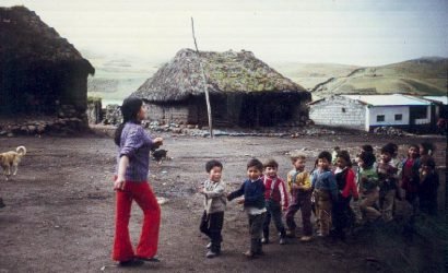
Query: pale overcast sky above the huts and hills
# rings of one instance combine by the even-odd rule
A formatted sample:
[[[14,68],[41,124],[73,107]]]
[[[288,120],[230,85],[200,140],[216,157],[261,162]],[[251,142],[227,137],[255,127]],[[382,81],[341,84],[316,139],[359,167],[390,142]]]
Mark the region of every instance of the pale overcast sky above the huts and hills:
[[[448,0],[0,0],[23,4],[82,52],[166,61],[193,48],[267,62],[376,66],[448,57]]]

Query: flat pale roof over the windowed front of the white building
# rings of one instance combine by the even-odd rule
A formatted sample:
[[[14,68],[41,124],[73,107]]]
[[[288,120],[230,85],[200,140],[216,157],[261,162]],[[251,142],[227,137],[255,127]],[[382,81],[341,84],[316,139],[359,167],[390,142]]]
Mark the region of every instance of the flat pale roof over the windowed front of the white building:
[[[402,94],[392,95],[342,95],[344,97],[359,100],[361,103],[372,106],[425,106],[431,105],[431,102],[406,96]]]

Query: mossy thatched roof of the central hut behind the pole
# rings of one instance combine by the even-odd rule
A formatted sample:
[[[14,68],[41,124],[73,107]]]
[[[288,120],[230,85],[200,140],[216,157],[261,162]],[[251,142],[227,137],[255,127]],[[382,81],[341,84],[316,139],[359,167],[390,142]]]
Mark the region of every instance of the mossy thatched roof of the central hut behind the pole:
[[[210,93],[306,92],[304,87],[257,59],[250,51],[201,51],[200,59]],[[175,102],[201,95],[203,92],[196,51],[181,49],[133,95],[149,102]]]

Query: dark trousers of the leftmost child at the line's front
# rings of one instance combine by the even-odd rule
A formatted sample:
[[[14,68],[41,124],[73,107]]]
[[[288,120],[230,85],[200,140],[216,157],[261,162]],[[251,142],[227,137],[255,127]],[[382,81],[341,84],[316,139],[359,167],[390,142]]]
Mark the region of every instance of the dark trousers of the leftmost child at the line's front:
[[[224,223],[224,212],[215,212],[207,214],[207,211],[203,212],[201,218],[201,225],[199,229],[209,236],[212,242],[212,252],[220,253],[221,252],[221,242],[223,241],[223,237],[221,232],[223,229]]]

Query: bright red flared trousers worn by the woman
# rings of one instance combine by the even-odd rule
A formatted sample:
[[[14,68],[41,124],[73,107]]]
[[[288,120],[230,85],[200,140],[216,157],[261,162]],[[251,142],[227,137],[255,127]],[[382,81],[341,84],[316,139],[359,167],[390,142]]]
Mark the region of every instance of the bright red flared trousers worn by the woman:
[[[115,240],[113,259],[128,261],[134,257],[152,258],[157,252],[158,228],[161,226],[161,207],[148,182],[125,183],[125,190],[117,190]],[[131,204],[135,200],[143,211],[143,226],[140,241],[134,254],[129,236]]]

